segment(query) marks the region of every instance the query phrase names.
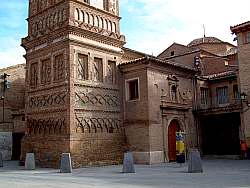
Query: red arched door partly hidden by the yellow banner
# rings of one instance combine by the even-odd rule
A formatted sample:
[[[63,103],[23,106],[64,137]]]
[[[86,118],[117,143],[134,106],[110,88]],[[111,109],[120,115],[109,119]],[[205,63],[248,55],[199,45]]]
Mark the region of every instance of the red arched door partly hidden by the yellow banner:
[[[171,121],[168,126],[168,159],[176,161],[176,132],[180,131],[180,124],[177,120]]]

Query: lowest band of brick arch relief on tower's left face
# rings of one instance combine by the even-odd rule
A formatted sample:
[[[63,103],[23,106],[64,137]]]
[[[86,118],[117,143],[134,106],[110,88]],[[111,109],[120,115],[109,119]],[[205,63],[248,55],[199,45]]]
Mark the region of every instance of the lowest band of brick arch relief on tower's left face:
[[[27,133],[29,135],[63,134],[66,130],[65,118],[28,119]]]

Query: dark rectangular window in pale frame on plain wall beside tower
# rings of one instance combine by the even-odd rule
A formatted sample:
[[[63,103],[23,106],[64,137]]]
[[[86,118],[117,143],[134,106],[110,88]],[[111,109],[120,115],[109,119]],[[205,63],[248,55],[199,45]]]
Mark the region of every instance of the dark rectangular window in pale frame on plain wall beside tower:
[[[126,83],[127,89],[127,100],[138,100],[139,99],[139,79],[129,80]]]

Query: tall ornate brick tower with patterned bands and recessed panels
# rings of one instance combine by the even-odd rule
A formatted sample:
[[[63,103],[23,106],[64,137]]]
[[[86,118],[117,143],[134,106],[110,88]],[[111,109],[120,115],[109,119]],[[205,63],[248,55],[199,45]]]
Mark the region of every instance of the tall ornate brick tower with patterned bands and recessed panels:
[[[26,134],[22,157],[58,167],[114,164],[125,136],[117,65],[118,0],[30,0],[26,50]]]

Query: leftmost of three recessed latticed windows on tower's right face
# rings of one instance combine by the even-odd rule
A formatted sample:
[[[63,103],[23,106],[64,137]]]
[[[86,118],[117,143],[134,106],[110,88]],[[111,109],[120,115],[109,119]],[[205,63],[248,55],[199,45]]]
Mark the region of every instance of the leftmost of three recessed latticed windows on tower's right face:
[[[77,59],[77,73],[76,77],[78,80],[88,79],[88,56],[78,54]]]

